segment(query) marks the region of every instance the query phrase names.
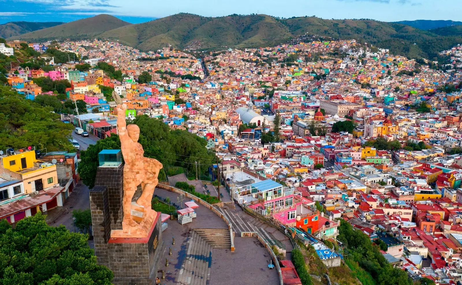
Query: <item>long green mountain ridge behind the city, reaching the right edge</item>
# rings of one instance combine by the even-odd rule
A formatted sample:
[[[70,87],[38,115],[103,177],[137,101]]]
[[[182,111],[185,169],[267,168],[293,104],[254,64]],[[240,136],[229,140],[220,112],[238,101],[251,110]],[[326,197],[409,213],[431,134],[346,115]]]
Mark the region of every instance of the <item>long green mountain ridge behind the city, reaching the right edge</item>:
[[[438,57],[440,51],[462,42],[459,36],[439,36],[397,23],[316,17],[277,19],[267,15],[211,18],[176,14],[110,30],[99,37],[118,39],[141,50],[155,50],[167,44],[185,48],[195,41],[201,42],[202,49],[214,49],[270,46],[306,33],[356,39],[412,58]]]

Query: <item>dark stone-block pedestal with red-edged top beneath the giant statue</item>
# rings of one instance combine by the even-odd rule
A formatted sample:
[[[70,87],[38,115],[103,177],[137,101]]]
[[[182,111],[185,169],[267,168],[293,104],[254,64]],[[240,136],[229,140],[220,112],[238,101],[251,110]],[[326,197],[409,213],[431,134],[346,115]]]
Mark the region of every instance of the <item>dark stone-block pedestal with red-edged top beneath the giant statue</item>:
[[[111,238],[112,230],[122,229],[123,166],[98,167],[95,184],[90,208],[98,264],[112,270],[115,285],[155,284],[162,256],[161,214],[146,238]]]

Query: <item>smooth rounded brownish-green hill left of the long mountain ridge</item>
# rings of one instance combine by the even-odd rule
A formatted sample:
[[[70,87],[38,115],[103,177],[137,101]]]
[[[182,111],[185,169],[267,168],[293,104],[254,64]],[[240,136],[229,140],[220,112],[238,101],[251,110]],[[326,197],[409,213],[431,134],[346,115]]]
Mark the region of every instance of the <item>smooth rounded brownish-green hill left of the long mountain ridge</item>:
[[[51,28],[36,30],[10,39],[44,40],[44,39],[78,39],[101,34],[107,30],[113,30],[122,26],[131,25],[111,15],[101,14],[91,18],[85,18]]]

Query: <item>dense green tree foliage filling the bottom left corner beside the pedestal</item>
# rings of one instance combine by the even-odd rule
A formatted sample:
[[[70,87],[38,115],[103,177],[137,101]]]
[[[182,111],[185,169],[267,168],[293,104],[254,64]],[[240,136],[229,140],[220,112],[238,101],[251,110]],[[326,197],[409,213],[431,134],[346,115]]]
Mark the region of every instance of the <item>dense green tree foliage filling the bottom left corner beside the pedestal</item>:
[[[0,221],[2,284],[111,285],[114,274],[98,265],[88,236],[52,227],[40,212],[8,225]]]

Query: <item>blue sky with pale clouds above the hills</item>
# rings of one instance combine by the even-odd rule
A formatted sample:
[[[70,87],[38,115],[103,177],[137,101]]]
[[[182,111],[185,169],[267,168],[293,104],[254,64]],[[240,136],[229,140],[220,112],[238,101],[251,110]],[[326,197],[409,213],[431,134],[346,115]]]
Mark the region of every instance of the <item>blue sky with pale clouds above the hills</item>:
[[[111,14],[142,23],[177,12],[202,16],[260,13],[276,17],[371,18],[380,21],[462,21],[461,0],[0,0],[0,24],[11,21],[69,22]]]

